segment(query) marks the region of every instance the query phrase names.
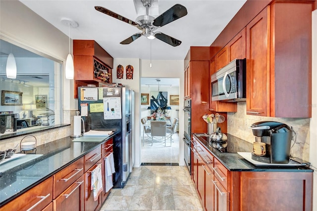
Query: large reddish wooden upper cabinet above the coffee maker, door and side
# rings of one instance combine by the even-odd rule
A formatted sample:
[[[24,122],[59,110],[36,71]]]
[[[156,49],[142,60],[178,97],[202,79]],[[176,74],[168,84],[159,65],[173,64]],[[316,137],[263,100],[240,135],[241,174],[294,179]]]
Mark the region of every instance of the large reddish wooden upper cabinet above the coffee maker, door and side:
[[[273,1],[246,26],[247,114],[311,117],[313,4]]]

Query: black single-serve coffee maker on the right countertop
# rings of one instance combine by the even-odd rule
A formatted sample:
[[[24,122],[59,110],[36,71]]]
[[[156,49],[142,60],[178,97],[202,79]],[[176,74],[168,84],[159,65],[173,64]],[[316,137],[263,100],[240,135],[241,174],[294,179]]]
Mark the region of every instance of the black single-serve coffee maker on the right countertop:
[[[266,154],[251,158],[265,163],[286,164],[291,151],[292,129],[281,122],[260,121],[251,125],[256,142],[265,143]]]

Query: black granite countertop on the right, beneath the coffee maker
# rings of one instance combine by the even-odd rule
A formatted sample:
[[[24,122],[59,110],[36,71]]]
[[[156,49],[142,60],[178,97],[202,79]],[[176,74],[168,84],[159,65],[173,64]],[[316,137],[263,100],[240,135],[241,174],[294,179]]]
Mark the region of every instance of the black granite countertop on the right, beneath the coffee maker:
[[[277,172],[313,172],[314,170],[303,165],[303,166],[255,166],[239,154],[237,152],[246,152],[242,151],[242,149],[236,148],[232,146],[232,142],[246,142],[242,139],[237,140],[239,138],[227,134],[228,137],[228,148],[230,148],[230,153],[222,153],[217,149],[213,148],[202,136],[205,134],[194,133],[195,138],[199,140],[210,152],[216,157],[228,170],[230,171],[277,171]],[[247,143],[244,143],[247,145]],[[238,150],[238,151],[237,151]],[[249,151],[251,152],[251,151]]]

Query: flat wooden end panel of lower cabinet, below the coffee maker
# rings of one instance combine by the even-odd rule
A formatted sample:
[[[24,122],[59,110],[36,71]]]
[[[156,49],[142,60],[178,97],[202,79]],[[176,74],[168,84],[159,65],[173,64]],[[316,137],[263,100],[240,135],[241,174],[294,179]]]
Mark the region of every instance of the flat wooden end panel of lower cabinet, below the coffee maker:
[[[241,184],[243,211],[312,210],[313,172],[242,172]]]

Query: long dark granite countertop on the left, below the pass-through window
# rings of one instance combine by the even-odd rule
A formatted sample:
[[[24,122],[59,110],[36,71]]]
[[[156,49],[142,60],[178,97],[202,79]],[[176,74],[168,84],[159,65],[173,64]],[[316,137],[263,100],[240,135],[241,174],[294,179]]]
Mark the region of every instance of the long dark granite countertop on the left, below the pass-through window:
[[[27,151],[26,153],[43,156],[0,173],[0,206],[38,185],[77,159],[82,158],[115,134],[106,138],[100,137],[102,139],[100,143],[72,142],[73,138],[66,137],[40,145],[36,148],[36,151]]]

